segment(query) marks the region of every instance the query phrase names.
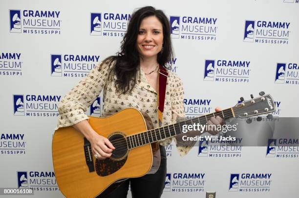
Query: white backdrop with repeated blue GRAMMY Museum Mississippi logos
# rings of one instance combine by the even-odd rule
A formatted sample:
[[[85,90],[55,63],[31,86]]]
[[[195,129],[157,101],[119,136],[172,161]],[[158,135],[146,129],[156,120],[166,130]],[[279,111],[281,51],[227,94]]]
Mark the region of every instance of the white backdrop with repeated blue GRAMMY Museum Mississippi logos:
[[[265,91],[275,100],[274,116],[299,117],[298,0],[1,0],[0,187],[64,197],[51,156],[58,104],[119,50],[132,11],[148,4],[170,19],[171,70],[183,80],[187,116]],[[102,107],[99,95],[86,113],[101,116]],[[185,157],[172,143],[162,197],[298,197],[298,146],[279,153],[270,149],[275,143],[197,144]]]

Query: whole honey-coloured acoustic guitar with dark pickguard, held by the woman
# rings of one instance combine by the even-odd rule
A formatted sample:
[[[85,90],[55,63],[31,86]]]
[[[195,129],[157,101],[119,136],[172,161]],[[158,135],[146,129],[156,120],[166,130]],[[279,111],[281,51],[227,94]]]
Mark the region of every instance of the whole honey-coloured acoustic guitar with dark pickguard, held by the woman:
[[[106,118],[89,117],[90,126],[115,147],[105,160],[94,158],[90,143],[72,126],[59,128],[52,141],[58,186],[67,198],[94,198],[108,194],[128,178],[153,174],[160,165],[159,140],[181,134],[183,125],[205,125],[214,116],[245,118],[275,111],[273,98],[263,91],[260,95],[247,101],[241,98],[232,108],[159,128],[153,128],[150,118],[134,108]]]

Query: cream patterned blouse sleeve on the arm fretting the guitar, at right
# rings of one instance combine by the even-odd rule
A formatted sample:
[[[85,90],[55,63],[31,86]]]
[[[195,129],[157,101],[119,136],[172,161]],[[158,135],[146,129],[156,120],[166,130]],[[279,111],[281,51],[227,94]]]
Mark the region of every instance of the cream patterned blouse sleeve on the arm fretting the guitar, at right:
[[[174,81],[174,89],[173,89],[173,96],[171,101],[172,107],[172,123],[176,123],[177,117],[185,118],[185,111],[184,111],[184,88],[182,80],[177,76]],[[175,138],[173,138],[177,151],[179,152],[180,156],[185,156],[191,148],[194,146],[195,142],[190,142],[190,144],[179,145]]]

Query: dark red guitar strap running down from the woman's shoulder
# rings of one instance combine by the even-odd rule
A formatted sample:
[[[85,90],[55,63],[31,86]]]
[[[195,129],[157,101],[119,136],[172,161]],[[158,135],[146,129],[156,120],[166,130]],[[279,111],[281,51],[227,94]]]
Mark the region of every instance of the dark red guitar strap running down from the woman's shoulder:
[[[161,65],[159,65],[158,100],[157,100],[159,126],[162,126],[162,121],[163,121],[163,111],[164,111],[167,77],[168,77],[167,70],[164,67],[162,67]]]

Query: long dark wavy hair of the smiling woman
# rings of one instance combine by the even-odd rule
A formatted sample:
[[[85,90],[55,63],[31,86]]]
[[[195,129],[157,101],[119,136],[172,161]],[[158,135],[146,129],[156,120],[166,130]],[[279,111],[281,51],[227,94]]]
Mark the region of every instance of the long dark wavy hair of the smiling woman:
[[[129,21],[128,30],[121,42],[121,51],[114,56],[109,56],[103,62],[109,61],[111,64],[115,61],[110,70],[109,79],[113,80],[114,74],[116,90],[121,93],[130,92],[137,83],[137,72],[140,68],[140,56],[137,51],[137,36],[141,21],[144,18],[155,16],[162,23],[163,27],[163,50],[157,54],[159,65],[167,68],[168,62],[171,62],[173,49],[171,44],[170,22],[162,10],[156,10],[154,7],[146,6],[136,10]]]

